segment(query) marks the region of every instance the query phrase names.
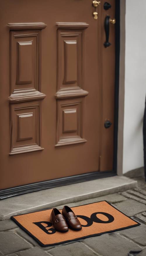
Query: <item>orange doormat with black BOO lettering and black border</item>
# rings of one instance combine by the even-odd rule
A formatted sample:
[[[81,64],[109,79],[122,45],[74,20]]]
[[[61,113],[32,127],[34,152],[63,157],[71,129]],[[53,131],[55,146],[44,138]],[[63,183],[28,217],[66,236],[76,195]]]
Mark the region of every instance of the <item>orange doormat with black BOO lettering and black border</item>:
[[[56,231],[50,222],[52,209],[17,215],[11,219],[41,246],[58,245],[140,225],[107,201],[71,208],[81,222],[80,231],[71,229],[65,233]]]

